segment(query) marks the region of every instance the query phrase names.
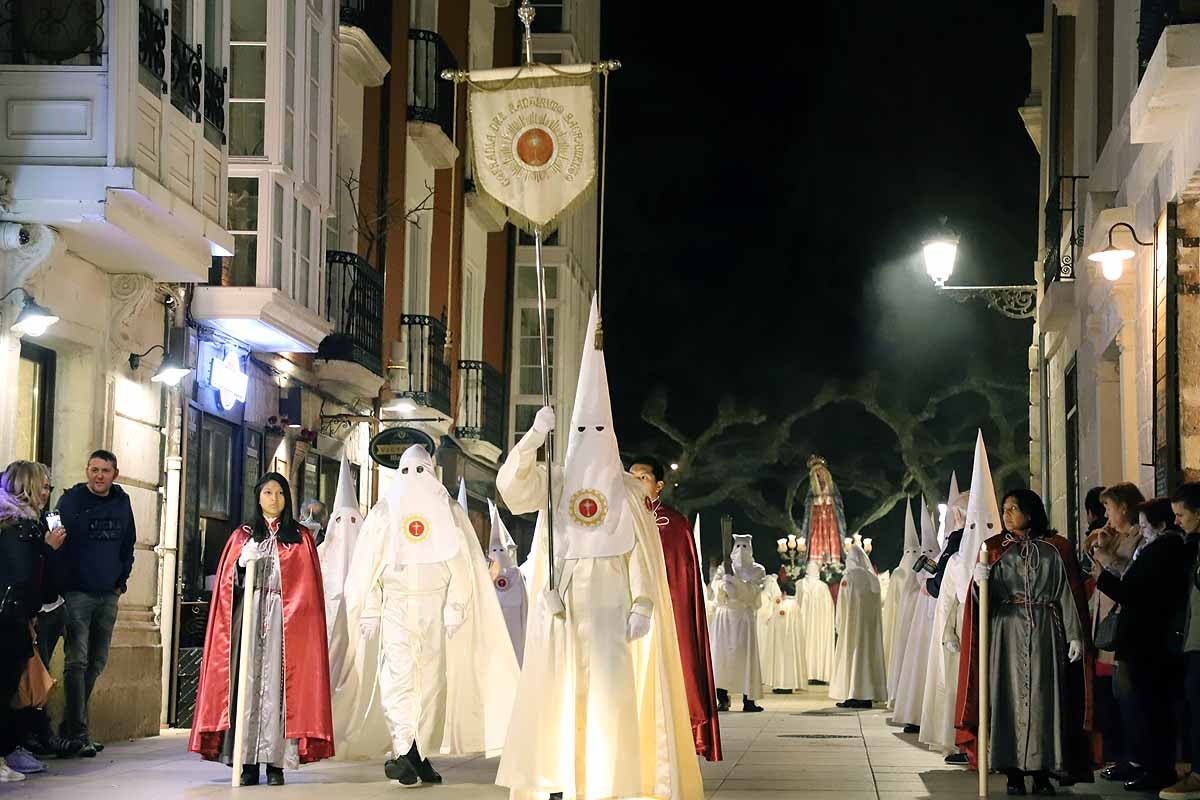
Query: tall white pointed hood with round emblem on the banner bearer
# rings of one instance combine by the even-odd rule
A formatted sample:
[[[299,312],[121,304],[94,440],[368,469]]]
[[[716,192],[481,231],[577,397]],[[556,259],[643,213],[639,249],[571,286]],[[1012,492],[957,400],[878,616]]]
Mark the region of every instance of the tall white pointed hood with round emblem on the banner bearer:
[[[554,510],[559,558],[605,558],[634,549],[634,521],[625,518],[625,468],[612,429],[608,372],[595,349],[595,297],[583,336],[580,383],[563,462],[563,491]]]

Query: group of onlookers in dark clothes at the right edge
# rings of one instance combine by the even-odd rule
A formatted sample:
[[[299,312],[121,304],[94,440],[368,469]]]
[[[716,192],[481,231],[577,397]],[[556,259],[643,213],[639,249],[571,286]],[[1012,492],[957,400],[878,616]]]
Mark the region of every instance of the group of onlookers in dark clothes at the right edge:
[[[1080,563],[1090,577],[1100,776],[1164,800],[1200,800],[1200,483],[1147,500],[1133,483],[1088,492]]]

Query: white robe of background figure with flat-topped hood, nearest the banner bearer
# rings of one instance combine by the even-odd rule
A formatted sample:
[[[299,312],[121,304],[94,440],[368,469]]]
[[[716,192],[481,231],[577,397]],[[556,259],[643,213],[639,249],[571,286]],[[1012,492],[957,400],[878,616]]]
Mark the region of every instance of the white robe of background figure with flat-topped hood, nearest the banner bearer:
[[[713,684],[751,700],[762,697],[762,652],[758,650],[758,609],[763,602],[764,576],[725,582],[725,567],[716,571],[716,612],[713,614]]]

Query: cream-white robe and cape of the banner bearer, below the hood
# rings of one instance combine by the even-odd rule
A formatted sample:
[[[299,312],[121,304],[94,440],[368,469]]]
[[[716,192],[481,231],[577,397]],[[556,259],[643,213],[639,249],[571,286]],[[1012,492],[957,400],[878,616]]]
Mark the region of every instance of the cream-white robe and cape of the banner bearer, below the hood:
[[[536,458],[536,446],[522,440],[497,475],[514,513],[545,506],[546,470]],[[623,489],[619,501],[635,528],[634,549],[577,559],[565,588],[556,570],[564,616],[554,616],[546,603],[546,525],[539,516],[517,684],[521,712],[512,716],[496,777],[510,788],[511,800],[545,800],[552,792],[568,800],[703,796],[658,525],[641,483],[626,475]],[[629,642],[625,626],[635,600],[649,601],[653,622],[650,633]]]

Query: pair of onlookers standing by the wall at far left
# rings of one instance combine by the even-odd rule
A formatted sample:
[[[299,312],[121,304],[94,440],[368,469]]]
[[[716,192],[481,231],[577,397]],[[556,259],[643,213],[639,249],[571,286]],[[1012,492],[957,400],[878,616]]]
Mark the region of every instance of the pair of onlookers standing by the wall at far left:
[[[85,481],[52,510],[46,465],[17,461],[0,475],[0,782],[44,771],[48,757],[103,750],[89,734],[88,708],[137,537],[116,476],[116,456],[95,451]],[[64,708],[55,730],[47,666],[60,640]]]

